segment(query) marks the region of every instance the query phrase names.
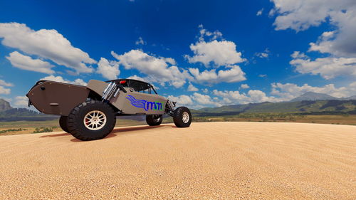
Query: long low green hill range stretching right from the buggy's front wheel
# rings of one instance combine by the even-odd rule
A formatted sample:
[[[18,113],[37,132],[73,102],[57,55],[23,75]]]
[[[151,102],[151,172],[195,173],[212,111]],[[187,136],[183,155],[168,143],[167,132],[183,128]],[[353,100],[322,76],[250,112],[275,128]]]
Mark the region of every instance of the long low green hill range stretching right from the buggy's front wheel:
[[[239,115],[240,113],[293,112],[305,114],[356,114],[356,100],[303,100],[299,102],[261,102],[225,105],[192,110],[195,116]]]

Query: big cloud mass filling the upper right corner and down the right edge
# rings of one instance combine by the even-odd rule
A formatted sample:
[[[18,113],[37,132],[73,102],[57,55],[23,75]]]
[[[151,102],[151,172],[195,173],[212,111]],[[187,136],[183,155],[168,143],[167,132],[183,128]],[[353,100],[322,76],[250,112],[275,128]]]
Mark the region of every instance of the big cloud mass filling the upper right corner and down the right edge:
[[[308,51],[327,53],[328,56],[311,60],[300,56],[290,61],[300,73],[321,75],[325,79],[340,75],[356,75],[356,1],[353,0],[273,0],[273,23],[276,30],[287,28],[303,31],[310,26],[328,22],[333,31],[325,31],[318,40],[310,43]]]

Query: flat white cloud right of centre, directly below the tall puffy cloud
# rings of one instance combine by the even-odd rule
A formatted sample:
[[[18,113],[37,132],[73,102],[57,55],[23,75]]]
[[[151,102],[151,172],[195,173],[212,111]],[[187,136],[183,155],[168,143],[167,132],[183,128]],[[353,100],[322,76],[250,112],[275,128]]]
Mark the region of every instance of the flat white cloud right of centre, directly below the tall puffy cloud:
[[[189,68],[189,72],[192,73],[197,83],[207,83],[208,85],[221,82],[235,83],[246,80],[245,73],[238,65],[231,65],[230,69],[219,70],[217,73],[215,69],[204,70],[200,73],[198,68]]]

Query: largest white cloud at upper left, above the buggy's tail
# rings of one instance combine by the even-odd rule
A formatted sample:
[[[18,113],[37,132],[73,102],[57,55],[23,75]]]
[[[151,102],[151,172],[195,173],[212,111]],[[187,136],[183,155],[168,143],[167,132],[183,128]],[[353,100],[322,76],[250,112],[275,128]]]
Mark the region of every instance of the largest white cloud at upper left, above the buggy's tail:
[[[24,23],[0,23],[0,38],[4,38],[1,41],[4,46],[52,60],[78,73],[91,73],[93,68],[86,64],[96,63],[88,53],[73,47],[67,38],[54,29],[34,31]],[[45,73],[53,72],[46,70]]]

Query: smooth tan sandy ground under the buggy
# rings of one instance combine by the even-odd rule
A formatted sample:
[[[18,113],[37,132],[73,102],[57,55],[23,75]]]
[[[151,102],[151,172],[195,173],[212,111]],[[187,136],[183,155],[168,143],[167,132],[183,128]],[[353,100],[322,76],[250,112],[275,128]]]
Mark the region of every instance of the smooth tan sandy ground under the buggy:
[[[0,137],[0,199],[356,199],[356,126],[210,122]]]

